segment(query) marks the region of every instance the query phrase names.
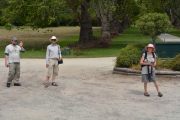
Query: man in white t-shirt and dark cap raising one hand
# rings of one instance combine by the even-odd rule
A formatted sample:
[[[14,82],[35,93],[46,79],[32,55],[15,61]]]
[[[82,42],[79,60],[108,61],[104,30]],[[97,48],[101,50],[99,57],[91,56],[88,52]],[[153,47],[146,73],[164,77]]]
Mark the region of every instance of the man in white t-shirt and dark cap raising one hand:
[[[20,52],[25,51],[23,42],[18,45],[16,37],[12,37],[11,44],[5,48],[5,66],[9,68],[7,87],[11,86],[14,81],[14,86],[21,86],[20,79]]]

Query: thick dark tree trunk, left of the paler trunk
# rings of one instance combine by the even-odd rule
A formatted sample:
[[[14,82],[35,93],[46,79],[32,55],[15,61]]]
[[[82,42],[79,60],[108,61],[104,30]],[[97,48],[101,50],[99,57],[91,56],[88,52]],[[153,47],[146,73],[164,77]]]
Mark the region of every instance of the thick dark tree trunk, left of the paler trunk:
[[[92,21],[88,12],[90,0],[83,0],[80,17],[80,44],[86,44],[93,40]]]

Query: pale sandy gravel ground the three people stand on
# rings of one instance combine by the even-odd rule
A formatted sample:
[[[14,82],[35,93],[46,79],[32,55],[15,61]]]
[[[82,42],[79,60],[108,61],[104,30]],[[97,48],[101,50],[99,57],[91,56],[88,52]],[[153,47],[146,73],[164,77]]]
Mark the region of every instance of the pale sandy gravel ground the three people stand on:
[[[179,120],[180,79],[158,78],[143,96],[140,76],[112,74],[115,58],[64,59],[58,87],[44,88],[45,61],[23,59],[22,87],[6,88],[0,59],[0,120]],[[179,80],[178,80],[179,79]]]

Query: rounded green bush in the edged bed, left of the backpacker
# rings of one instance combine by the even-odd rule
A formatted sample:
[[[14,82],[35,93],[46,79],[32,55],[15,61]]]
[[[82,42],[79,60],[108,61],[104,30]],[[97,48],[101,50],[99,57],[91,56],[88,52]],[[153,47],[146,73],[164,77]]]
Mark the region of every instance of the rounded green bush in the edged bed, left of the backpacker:
[[[119,56],[116,59],[116,67],[130,68],[134,64],[138,64],[141,57],[141,50],[132,45],[121,49]]]

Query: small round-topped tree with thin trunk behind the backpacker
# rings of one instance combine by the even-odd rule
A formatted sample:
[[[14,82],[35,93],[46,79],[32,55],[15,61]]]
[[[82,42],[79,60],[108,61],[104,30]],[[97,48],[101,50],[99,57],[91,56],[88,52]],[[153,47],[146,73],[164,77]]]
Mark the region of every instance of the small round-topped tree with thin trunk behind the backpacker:
[[[150,35],[152,37],[153,43],[157,35],[167,31],[170,27],[169,17],[162,13],[148,13],[136,21],[136,26],[144,34]]]

